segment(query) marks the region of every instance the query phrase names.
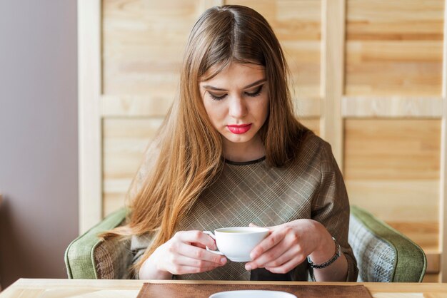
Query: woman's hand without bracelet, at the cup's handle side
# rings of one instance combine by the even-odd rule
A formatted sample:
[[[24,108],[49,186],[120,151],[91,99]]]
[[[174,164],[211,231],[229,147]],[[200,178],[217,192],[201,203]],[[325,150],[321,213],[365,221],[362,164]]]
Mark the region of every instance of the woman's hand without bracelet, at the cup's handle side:
[[[140,279],[171,279],[172,274],[205,272],[226,264],[226,257],[206,250],[216,250],[216,242],[201,231],[176,232],[160,245],[141,266]]]

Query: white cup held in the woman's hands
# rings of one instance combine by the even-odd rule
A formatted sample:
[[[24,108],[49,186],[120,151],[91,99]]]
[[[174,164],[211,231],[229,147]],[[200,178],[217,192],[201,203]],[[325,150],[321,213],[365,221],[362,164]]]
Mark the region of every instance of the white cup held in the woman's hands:
[[[225,255],[233,262],[251,261],[250,252],[268,235],[265,227],[223,227],[210,231],[204,231],[216,240],[218,250],[210,250],[218,255]]]

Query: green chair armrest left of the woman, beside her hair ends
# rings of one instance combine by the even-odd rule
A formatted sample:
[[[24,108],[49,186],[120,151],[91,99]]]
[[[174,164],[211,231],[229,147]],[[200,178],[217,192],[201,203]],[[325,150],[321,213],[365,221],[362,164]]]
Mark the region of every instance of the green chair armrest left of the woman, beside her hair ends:
[[[116,259],[122,259],[127,262],[131,258],[129,252],[129,241],[107,240],[103,241],[98,237],[101,232],[118,227],[126,219],[126,208],[121,208],[111,215],[107,216],[90,230],[77,237],[65,251],[65,264],[67,275],[71,279],[101,279],[101,278],[121,278],[116,273],[104,270],[104,266],[99,264],[102,259],[114,264]],[[109,252],[107,252],[109,251]],[[99,255],[99,256],[98,256]],[[101,260],[101,261],[100,261]],[[118,260],[121,261],[122,260]],[[126,270],[126,268],[123,268]],[[118,269],[116,271],[120,271]],[[104,272],[106,271],[106,272]],[[122,271],[122,270],[121,270]],[[124,276],[126,277],[126,276]]]

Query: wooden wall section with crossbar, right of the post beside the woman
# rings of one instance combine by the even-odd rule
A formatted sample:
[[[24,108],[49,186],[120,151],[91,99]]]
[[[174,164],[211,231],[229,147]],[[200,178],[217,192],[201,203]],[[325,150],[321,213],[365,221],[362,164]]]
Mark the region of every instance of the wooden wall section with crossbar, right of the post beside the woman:
[[[352,204],[421,245],[437,280],[444,1],[346,2],[344,176]]]

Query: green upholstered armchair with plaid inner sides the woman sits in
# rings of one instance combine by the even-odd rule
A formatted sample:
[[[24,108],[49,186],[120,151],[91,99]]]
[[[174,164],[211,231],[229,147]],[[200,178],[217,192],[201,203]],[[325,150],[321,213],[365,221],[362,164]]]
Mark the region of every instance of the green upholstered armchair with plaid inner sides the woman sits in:
[[[65,252],[69,278],[131,278],[130,242],[102,241],[97,237],[100,232],[121,225],[125,217],[126,210],[118,210],[71,242]],[[371,213],[355,206],[351,206],[349,243],[358,262],[359,282],[422,281],[427,262],[421,248]]]

